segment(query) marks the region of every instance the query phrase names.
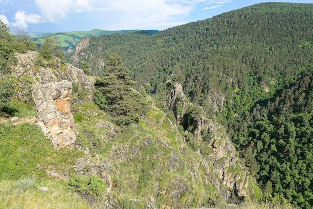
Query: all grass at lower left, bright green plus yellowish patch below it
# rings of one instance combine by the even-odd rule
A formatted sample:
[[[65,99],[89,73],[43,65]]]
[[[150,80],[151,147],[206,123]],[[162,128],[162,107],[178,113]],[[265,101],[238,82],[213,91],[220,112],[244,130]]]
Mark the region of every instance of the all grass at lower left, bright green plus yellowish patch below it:
[[[64,181],[45,173],[53,166],[73,175],[72,165],[84,153],[55,150],[41,130],[28,123],[0,123],[0,147],[0,208],[91,208]]]

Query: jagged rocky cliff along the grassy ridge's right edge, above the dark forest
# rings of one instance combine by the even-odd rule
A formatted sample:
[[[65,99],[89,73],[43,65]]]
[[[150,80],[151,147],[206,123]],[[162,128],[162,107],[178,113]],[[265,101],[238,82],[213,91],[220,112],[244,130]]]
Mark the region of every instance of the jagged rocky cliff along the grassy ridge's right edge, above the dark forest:
[[[177,122],[181,123],[192,103],[186,100],[180,84],[169,81],[167,87],[169,95],[167,108],[173,111]],[[217,170],[223,186],[229,190],[234,190],[238,197],[249,198],[248,174],[237,161],[238,153],[234,144],[229,140],[225,129],[201,115],[196,121],[192,135],[197,141],[199,150],[209,150],[205,151],[209,156],[208,161]],[[205,143],[203,143],[204,140]],[[227,199],[229,195],[229,192],[225,193],[224,198]]]

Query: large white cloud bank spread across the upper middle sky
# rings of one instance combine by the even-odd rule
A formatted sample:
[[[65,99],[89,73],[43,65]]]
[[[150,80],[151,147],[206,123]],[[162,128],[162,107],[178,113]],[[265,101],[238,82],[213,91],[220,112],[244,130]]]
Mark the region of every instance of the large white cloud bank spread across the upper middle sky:
[[[199,7],[213,9],[226,3],[231,0],[35,0],[41,22],[62,23],[68,15],[90,13],[105,30],[181,25]]]

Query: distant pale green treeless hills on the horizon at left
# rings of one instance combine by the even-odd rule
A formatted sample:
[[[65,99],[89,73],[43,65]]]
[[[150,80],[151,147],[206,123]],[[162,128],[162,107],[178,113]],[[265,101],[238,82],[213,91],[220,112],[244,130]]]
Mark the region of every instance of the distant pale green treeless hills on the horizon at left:
[[[126,34],[140,30],[122,30],[122,31],[104,31],[100,29],[94,29],[91,31],[73,31],[73,32],[50,32],[50,33],[30,33],[30,40],[42,44],[44,37],[52,37],[58,40],[60,48],[66,52],[66,55],[70,55],[79,43],[82,37],[101,36],[104,34]],[[149,34],[157,33],[157,30],[148,30]]]

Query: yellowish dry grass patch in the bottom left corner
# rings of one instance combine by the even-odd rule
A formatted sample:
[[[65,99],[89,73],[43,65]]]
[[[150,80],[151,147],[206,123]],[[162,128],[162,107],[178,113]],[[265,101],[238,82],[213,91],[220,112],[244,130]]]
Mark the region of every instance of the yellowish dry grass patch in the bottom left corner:
[[[37,182],[32,178],[4,180],[0,182],[0,194],[0,208],[92,208],[86,200],[57,181]]]

